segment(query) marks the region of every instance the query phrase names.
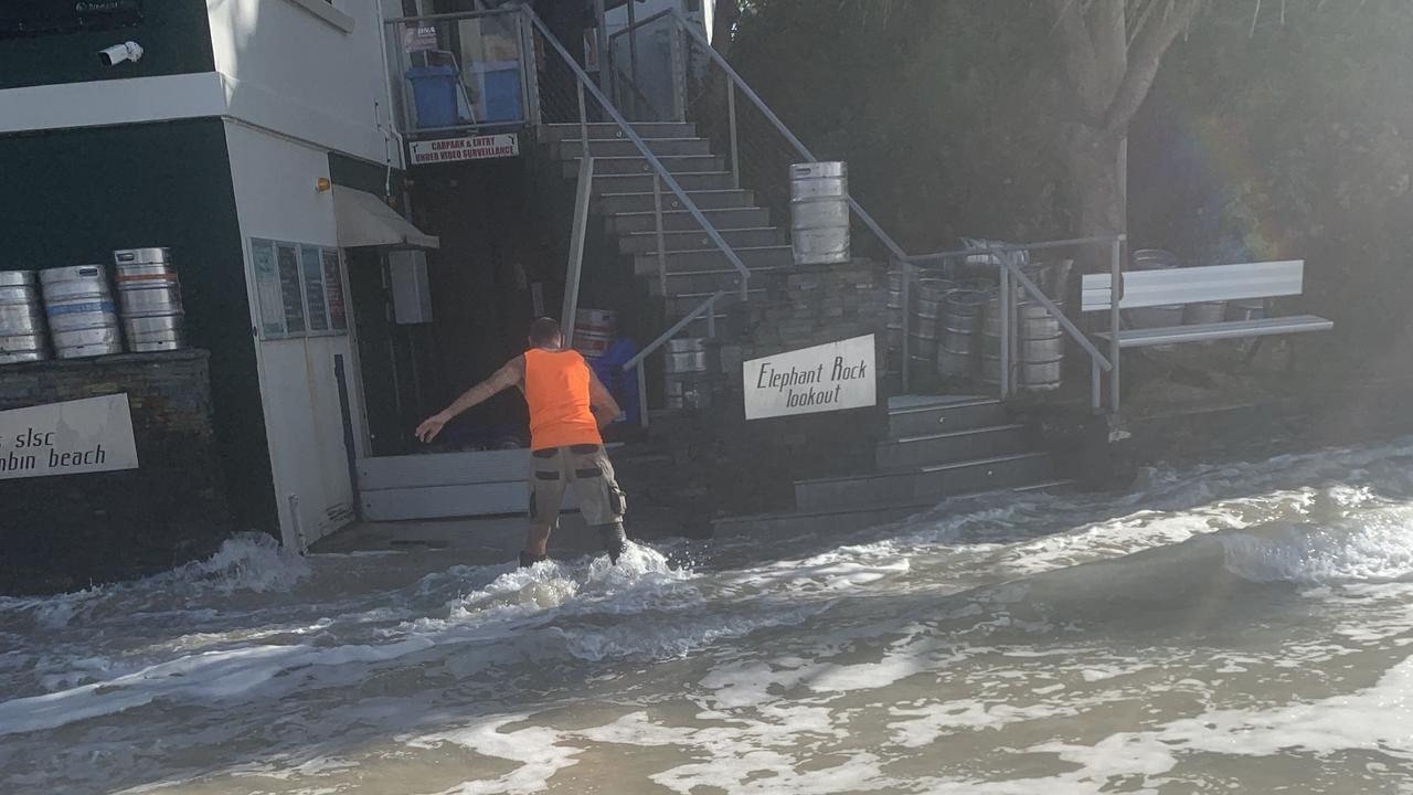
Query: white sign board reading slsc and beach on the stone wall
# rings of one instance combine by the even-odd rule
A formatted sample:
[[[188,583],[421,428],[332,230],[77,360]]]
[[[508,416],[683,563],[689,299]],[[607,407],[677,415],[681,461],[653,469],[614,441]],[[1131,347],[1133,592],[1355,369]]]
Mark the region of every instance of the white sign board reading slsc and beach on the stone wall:
[[[127,395],[0,412],[0,480],[136,468]]]

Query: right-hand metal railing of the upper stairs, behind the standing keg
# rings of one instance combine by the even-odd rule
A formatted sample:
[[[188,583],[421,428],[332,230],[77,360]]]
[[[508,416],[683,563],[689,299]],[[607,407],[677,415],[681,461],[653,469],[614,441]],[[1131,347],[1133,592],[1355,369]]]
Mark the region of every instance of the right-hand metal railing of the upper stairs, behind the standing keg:
[[[667,8],[664,11],[658,11],[657,14],[644,17],[637,23],[625,27],[623,30],[619,30],[613,35],[610,35],[609,52],[608,52],[609,62],[617,65],[619,64],[617,59],[620,58],[622,51],[616,48],[626,45],[630,54],[630,62],[627,64],[629,69],[627,79],[633,83],[639,83],[637,66],[639,62],[642,61],[642,55],[639,54],[642,48],[637,45],[637,37],[642,35],[642,31],[644,30],[646,25],[658,24],[661,20],[668,20],[666,24],[671,25],[673,33],[680,33],[684,37],[684,41],[687,42],[687,47],[680,48],[675,45],[674,40],[671,47],[674,61],[677,59],[678,51],[682,51],[682,58],[687,59],[687,64],[684,65],[678,65],[675,62],[673,65],[673,75],[671,75],[671,88],[674,91],[673,106],[694,108],[705,103],[706,108],[704,108],[698,113],[698,116],[702,117],[704,123],[714,127],[712,137],[721,139],[718,143],[729,149],[731,170],[736,181],[736,187],[738,188],[742,187],[740,181],[743,171],[755,171],[755,174],[752,175],[756,177],[756,182],[759,184],[759,187],[763,191],[773,194],[767,197],[767,204],[770,205],[770,208],[777,214],[780,214],[779,215],[780,218],[787,218],[788,185],[783,184],[787,168],[781,167],[781,164],[774,157],[762,157],[760,160],[763,161],[757,167],[750,167],[750,164],[745,160],[745,157],[749,156],[752,150],[766,150],[771,146],[774,146],[779,150],[781,149],[779,143],[783,141],[786,144],[784,151],[779,151],[779,154],[783,157],[797,158],[797,161],[805,161],[805,163],[818,163],[820,158],[815,157],[814,153],[810,151],[810,149],[804,146],[804,143],[793,132],[790,132],[790,127],[787,127],[786,123],[781,122],[780,117],[774,113],[774,110],[771,110],[770,106],[766,105],[763,99],[760,99],[760,95],[750,88],[750,85],[740,76],[740,74],[736,72],[736,69],[732,68],[732,65],[725,58],[722,58],[721,52],[716,52],[716,48],[714,48],[711,42],[706,41],[706,35],[701,30],[698,30],[698,27],[691,20],[688,20],[687,16],[682,14],[680,8]],[[627,38],[625,40],[625,37]],[[711,89],[715,85],[712,81],[714,75],[708,74],[708,75],[701,75],[699,78],[694,75],[695,69],[692,64],[692,57],[698,54],[705,58],[705,64],[708,65],[708,68],[715,68],[716,72],[714,72],[714,75],[718,75],[723,81],[725,99],[722,103],[725,105],[725,108],[721,108],[715,102],[712,102]],[[694,91],[694,88],[697,91]],[[636,85],[634,91],[640,95],[647,93],[647,91],[640,85]],[[677,93],[680,93],[680,96]],[[764,126],[767,129],[774,130],[774,133],[779,136],[779,141],[760,140],[757,136],[753,144],[752,141],[745,141],[752,146],[745,146],[745,147],[742,146],[743,139],[749,137],[752,132],[746,124],[742,123],[743,119],[739,103],[736,100],[738,93],[743,95],[749,100],[747,106],[753,108],[756,113],[759,113],[759,117],[764,123]],[[637,120],[667,120],[667,119],[637,119]],[[863,226],[883,245],[883,248],[887,249],[889,255],[893,259],[901,260],[903,257],[907,256],[903,248],[897,245],[897,240],[894,240],[887,232],[885,232],[883,228],[877,224],[877,221],[875,221],[873,216],[869,215],[869,212],[863,209],[863,207],[853,197],[849,197],[849,209],[859,219],[859,222],[862,222]]]

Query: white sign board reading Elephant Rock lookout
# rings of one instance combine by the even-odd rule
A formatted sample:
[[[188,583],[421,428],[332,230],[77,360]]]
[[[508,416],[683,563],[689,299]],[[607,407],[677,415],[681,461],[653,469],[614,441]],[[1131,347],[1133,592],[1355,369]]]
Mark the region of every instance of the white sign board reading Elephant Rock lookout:
[[[742,375],[747,420],[877,403],[872,334],[750,359]]]

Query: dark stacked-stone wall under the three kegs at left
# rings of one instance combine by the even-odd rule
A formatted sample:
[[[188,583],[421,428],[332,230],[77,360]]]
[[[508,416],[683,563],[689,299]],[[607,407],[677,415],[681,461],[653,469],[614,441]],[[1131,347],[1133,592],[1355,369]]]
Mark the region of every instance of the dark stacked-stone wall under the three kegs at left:
[[[140,468],[0,480],[0,594],[57,593],[209,556],[235,529],[205,351],[0,368],[0,410],[127,393]]]

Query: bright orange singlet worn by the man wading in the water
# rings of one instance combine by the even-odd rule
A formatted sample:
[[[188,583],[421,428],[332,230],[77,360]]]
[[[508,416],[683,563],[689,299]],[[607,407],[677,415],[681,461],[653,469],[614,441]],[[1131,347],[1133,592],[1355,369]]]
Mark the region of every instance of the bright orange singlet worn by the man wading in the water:
[[[603,444],[589,409],[589,365],[577,351],[526,351],[530,450]]]

